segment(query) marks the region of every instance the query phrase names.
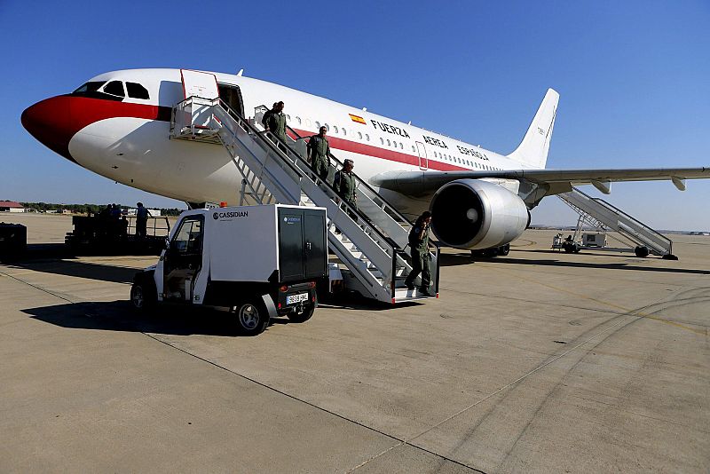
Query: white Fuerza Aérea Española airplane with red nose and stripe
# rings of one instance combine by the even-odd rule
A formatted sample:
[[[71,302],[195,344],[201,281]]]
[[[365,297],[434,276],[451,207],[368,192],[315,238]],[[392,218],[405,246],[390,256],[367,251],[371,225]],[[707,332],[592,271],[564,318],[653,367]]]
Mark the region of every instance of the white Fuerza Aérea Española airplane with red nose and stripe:
[[[239,201],[241,177],[224,146],[171,140],[172,108],[217,96],[243,117],[285,102],[301,136],[328,130],[331,150],[407,217],[430,209],[431,230],[457,249],[509,249],[546,196],[612,181],[710,178],[710,168],[548,170],[559,94],[549,89],[517,148],[507,155],[415,127],[365,108],[246,77],[190,69],[127,69],[97,75],[75,91],[28,107],[22,125],[43,145],[101,176],[185,201]],[[254,113],[256,115],[256,113]],[[507,252],[506,252],[507,253]]]

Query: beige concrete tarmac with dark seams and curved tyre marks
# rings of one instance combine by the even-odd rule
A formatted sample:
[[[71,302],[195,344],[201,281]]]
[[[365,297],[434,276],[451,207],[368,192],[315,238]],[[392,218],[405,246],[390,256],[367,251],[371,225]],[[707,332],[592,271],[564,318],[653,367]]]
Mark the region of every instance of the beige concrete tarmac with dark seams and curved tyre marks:
[[[0,265],[0,471],[708,472],[710,237],[665,261],[553,235],[447,249],[438,300],[257,337],[131,312],[155,257]]]

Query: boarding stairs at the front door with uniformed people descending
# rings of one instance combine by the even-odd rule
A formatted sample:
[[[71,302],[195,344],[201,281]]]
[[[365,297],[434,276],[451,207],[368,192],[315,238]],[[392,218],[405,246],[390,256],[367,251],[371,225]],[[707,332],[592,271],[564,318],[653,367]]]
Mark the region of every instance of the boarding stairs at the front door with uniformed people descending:
[[[255,115],[260,109],[265,107],[257,107]],[[390,304],[438,296],[438,245],[430,243],[430,296],[407,289],[405,279],[412,266],[406,246],[412,224],[406,217],[357,176],[358,209],[353,209],[330,184],[341,162],[330,156],[328,179],[322,182],[304,160],[303,138],[289,128],[288,143],[283,143],[257,123],[220,99],[191,97],[173,108],[170,136],[225,146],[241,174],[240,204],[326,208],[328,247],[349,271],[343,272],[347,288]],[[414,285],[419,288],[421,275]]]

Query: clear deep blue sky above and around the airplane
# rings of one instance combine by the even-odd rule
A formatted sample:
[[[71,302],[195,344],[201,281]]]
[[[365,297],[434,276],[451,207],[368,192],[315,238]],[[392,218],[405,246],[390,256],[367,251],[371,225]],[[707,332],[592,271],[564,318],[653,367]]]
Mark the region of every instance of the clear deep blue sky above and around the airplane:
[[[710,165],[710,3],[0,1],[0,199],[181,203],[40,145],[22,110],[102,72],[189,67],[282,83],[507,154],[560,92],[548,168]],[[590,194],[596,190],[584,188]],[[664,229],[710,229],[710,182],[617,183]],[[572,225],[556,198],[534,223]]]

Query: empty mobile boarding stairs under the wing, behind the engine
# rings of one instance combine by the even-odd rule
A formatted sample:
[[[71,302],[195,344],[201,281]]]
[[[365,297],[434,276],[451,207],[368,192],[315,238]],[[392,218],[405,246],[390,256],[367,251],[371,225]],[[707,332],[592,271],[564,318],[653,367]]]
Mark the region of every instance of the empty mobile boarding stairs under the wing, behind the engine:
[[[677,259],[673,255],[673,242],[670,239],[609,202],[593,198],[576,187],[572,187],[569,193],[557,194],[557,197],[580,214],[580,219],[589,225],[596,229],[616,231],[633,242],[637,249],[636,255],[642,257],[643,253],[651,253],[666,259]]]

